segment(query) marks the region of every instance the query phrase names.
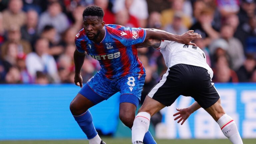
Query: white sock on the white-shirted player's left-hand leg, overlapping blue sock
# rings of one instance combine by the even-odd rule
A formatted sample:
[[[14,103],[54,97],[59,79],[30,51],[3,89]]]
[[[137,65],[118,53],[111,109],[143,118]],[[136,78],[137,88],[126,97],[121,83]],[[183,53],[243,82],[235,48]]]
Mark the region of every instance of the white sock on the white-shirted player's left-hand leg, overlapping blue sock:
[[[150,114],[140,112],[136,115],[132,126],[132,143],[143,141],[145,133],[148,131],[150,123]]]

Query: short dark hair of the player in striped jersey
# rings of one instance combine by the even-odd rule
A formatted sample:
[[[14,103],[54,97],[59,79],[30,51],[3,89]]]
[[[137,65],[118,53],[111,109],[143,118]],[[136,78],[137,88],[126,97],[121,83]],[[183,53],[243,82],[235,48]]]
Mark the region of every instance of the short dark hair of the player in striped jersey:
[[[91,5],[84,9],[83,17],[84,16],[98,16],[100,18],[103,18],[104,11],[101,7],[98,7],[96,5]]]

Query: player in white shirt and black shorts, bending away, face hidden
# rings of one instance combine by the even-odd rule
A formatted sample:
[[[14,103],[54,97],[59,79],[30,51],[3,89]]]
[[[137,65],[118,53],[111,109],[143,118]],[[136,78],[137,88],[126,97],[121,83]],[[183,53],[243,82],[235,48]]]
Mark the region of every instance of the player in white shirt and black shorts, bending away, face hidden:
[[[183,124],[191,113],[202,107],[233,144],[243,143],[234,120],[224,112],[220,104],[220,96],[211,81],[213,71],[199,47],[158,40],[144,42],[142,46],[160,49],[168,70],[148,93],[134,119],[133,144],[142,144],[144,134],[149,128],[150,117],[170,106],[180,95],[191,96],[196,102],[186,109],[177,109],[179,112],[175,114],[178,115],[175,120],[179,119],[178,123],[183,120]]]

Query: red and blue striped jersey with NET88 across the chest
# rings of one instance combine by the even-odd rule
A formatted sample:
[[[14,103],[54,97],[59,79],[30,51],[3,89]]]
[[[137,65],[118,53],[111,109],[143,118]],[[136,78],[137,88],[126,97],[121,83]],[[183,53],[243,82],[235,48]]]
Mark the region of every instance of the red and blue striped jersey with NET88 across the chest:
[[[98,60],[100,72],[109,79],[118,79],[130,73],[144,74],[135,44],[145,40],[146,30],[120,25],[105,25],[104,29],[105,37],[100,43],[89,40],[82,29],[75,38],[76,49]]]

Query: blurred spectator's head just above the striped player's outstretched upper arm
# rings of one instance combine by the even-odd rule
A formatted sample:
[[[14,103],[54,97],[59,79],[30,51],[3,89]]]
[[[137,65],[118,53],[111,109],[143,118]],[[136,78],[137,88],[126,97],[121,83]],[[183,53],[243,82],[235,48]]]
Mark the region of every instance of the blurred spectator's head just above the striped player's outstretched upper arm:
[[[150,13],[147,28],[162,29],[161,14],[159,12]]]

